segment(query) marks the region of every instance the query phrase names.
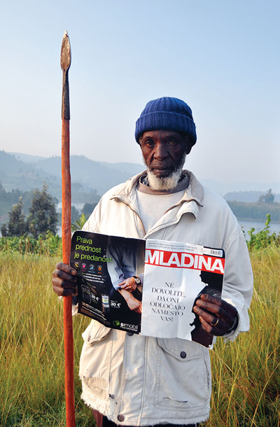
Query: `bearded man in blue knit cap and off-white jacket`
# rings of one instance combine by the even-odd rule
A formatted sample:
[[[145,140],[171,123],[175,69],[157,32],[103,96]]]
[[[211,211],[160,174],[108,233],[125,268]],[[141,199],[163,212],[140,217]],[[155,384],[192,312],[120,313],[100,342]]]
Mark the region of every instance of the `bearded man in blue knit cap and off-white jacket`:
[[[224,248],[223,299],[202,294],[193,311],[202,327],[233,340],[249,328],[252,272],[243,233],[228,204],[183,171],[196,143],[190,107],[164,97],[148,102],[135,137],[147,171],[109,190],[84,230]],[[76,293],[76,272],[59,264],[53,288]],[[99,426],[160,423],[196,426],[209,417],[209,350],[184,339],[111,330],[92,321],[83,333],[82,398]],[[115,424],[114,424],[115,423]]]

